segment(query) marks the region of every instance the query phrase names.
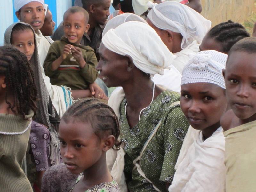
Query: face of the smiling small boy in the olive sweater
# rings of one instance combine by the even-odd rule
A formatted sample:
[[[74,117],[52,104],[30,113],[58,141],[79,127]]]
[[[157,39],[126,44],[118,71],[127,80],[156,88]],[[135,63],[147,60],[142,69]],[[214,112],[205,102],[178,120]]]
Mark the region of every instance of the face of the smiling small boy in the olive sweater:
[[[67,13],[63,21],[64,33],[70,43],[79,44],[84,32],[90,28],[84,13]]]

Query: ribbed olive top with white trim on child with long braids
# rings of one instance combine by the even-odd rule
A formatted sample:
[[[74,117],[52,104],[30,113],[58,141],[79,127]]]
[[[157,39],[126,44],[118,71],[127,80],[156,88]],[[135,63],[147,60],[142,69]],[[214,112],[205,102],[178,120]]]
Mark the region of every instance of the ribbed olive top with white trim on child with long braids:
[[[21,116],[0,114],[0,191],[32,192],[21,166],[25,156],[32,111],[23,120]]]

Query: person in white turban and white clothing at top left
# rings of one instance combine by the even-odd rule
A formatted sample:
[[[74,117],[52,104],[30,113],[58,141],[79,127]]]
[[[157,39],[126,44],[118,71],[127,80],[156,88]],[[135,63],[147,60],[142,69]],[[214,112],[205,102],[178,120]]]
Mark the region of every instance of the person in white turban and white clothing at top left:
[[[51,45],[40,31],[44,24],[45,8],[47,5],[44,4],[44,0],[14,0],[13,5],[17,18],[21,22],[30,24],[36,32],[39,60],[43,66]],[[27,10],[30,12],[26,12]],[[42,72],[44,73],[44,70]]]

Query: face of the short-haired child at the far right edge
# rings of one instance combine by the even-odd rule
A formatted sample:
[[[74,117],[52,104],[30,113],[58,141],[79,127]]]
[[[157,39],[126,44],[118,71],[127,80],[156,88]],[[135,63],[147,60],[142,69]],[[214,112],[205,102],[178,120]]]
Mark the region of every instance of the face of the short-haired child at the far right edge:
[[[223,71],[229,105],[241,120],[256,120],[256,54],[231,52]]]

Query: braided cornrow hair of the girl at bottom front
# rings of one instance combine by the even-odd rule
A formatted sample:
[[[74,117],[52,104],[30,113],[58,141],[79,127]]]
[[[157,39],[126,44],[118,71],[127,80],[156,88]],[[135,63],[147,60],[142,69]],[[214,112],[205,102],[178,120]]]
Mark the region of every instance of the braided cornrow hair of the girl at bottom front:
[[[69,118],[76,118],[81,122],[89,122],[94,133],[102,138],[104,134],[113,135],[116,139],[114,150],[118,150],[122,142],[118,142],[120,134],[118,118],[111,107],[95,98],[81,99],[71,105],[62,116],[68,123]]]

